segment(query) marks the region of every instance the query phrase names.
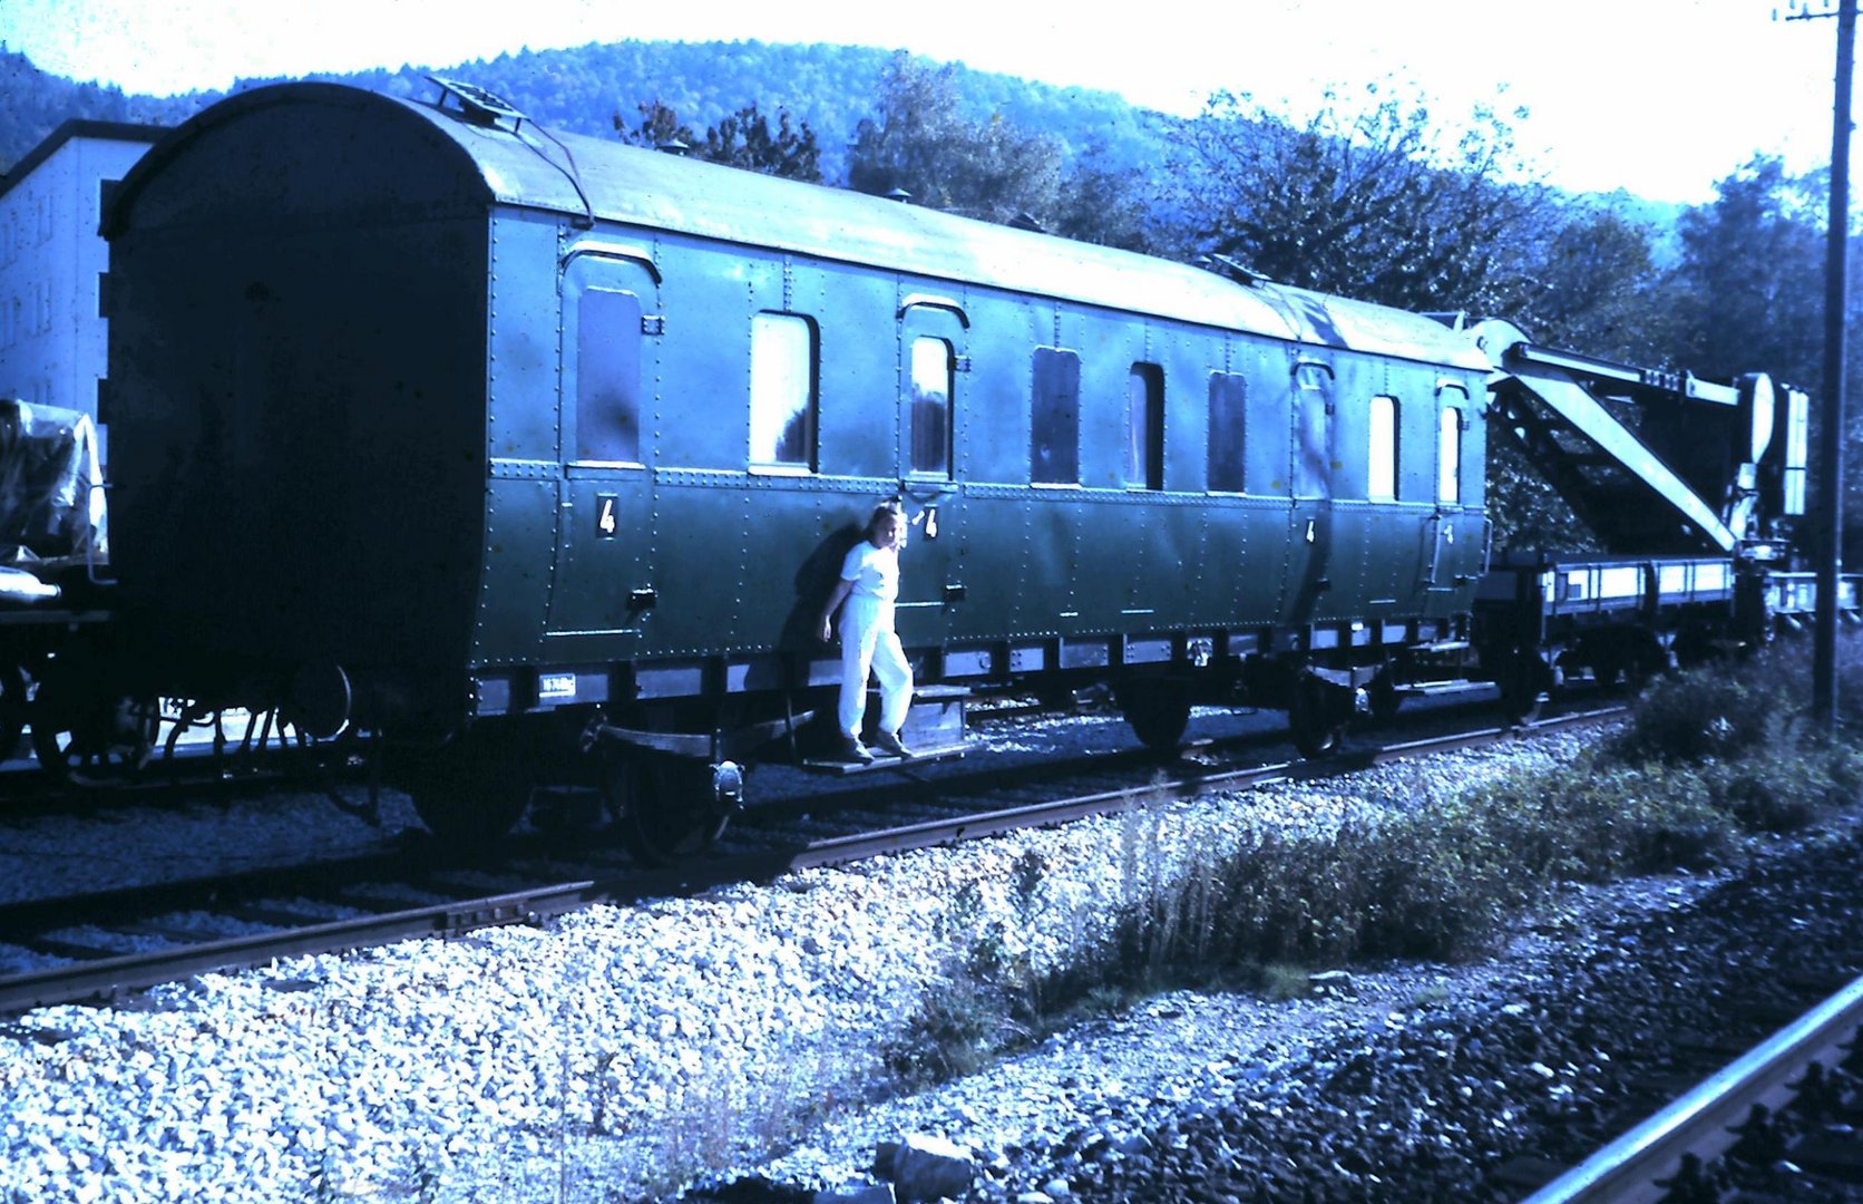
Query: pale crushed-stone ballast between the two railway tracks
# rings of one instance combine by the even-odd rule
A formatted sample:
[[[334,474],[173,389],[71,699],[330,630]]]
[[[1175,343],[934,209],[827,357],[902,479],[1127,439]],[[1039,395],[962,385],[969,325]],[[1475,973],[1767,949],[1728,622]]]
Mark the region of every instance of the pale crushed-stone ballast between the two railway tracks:
[[[887,1051],[909,1042],[907,1021],[980,936],[1054,965],[1103,937],[1116,904],[1198,855],[1557,766],[1582,740],[30,1012],[0,1021],[0,1198],[637,1200],[732,1182],[807,1193],[870,1183],[876,1144],[917,1131],[974,1150],[984,1198],[1062,1198],[1094,1182],[1082,1165],[1144,1156],[1168,1124],[1226,1107],[1237,1083],[1293,1092],[1315,1049],[1518,990],[1559,932],[1522,934],[1481,967],[1354,971],[1317,999],[1168,995],[982,1077],[887,1100]],[[1559,923],[1585,923],[1587,908],[1660,913],[1710,885],[1574,893]]]

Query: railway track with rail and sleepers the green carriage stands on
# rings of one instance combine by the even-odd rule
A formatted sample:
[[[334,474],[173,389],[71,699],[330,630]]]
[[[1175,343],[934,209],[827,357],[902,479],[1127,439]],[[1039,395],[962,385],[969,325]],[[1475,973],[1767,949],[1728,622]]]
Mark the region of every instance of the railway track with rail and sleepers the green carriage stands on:
[[[768,880],[786,870],[1114,814],[1213,788],[1243,790],[1336,777],[1407,757],[1597,723],[1617,714],[1621,708],[1585,710],[1543,719],[1530,729],[1438,732],[1423,740],[1347,749],[1317,762],[1230,766],[1205,747],[1190,749],[1190,757],[1170,773],[1159,772],[1155,755],[1116,753],[1082,757],[1060,770],[1025,766],[905,781],[844,798],[779,803],[768,814],[758,807],[743,816],[715,855],[678,869],[641,869],[602,848],[578,848],[570,861],[553,855],[551,841],[544,837],[522,844],[514,857],[496,867],[445,861],[415,846],[291,870],[34,900],[0,908],[0,941],[61,960],[0,977],[0,1014],[112,1001],[149,986],[246,969],[283,956],[341,952],[412,937],[455,937],[496,924],[535,924],[596,902],[626,904]],[[1056,773],[1064,779],[1060,787]],[[1108,775],[1131,781],[1105,788]],[[1040,798],[1023,801],[1030,794]],[[911,811],[904,824],[902,807]],[[563,842],[557,844],[561,848]],[[406,902],[410,895],[427,898]],[[201,923],[201,913],[211,913],[222,928],[240,932],[190,937],[190,932],[209,926]],[[78,930],[78,939],[69,936],[73,930]]]

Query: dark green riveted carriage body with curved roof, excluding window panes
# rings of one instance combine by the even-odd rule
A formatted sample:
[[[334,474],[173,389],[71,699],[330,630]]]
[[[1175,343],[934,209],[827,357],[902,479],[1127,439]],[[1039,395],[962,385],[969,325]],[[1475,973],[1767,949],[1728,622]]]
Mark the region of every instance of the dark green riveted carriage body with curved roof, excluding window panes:
[[[307,147],[285,136],[300,123],[322,130]],[[227,101],[153,153],[117,218],[129,287],[160,287],[156,272],[205,259],[197,240],[162,257],[156,244],[181,235],[155,214],[170,181],[209,171],[196,164],[224,130],[248,127],[263,130],[240,134],[250,175],[291,155],[361,157],[367,179],[333,186],[330,203],[380,194],[345,224],[306,220],[281,246],[250,216],[227,214],[235,233],[214,233],[253,226],[255,255],[317,281],[306,306],[345,315],[333,360],[347,367],[326,380],[317,421],[289,427],[307,464],[294,468],[300,483],[322,490],[319,475],[332,473],[354,492],[332,505],[360,550],[311,544],[322,563],[367,567],[371,591],[345,578],[354,596],[324,591],[322,613],[300,619],[343,664],[352,639],[384,656],[408,643],[449,669],[615,665],[622,691],[630,675],[648,693],[777,688],[784,665],[801,677],[831,664],[816,637],[822,600],[870,509],[896,494],[915,520],[902,637],[918,654],[976,650],[965,664],[993,673],[1110,667],[1127,637],[1149,662],[1192,641],[1267,647],[1271,628],[1285,647],[1312,624],[1468,611],[1485,531],[1481,425],[1462,436],[1461,499],[1438,505],[1436,416],[1440,384],[1481,397],[1487,365],[1462,335],[1414,315],[566,138],[594,211],[587,227],[561,155],[326,86]],[[412,201],[397,196],[402,170],[419,175],[404,183]],[[212,287],[235,289],[235,276]],[[641,304],[643,330],[615,334],[639,341],[639,464],[578,462],[576,302],[592,287]],[[188,289],[171,285],[173,300],[199,302]],[[812,322],[818,440],[801,473],[749,464],[760,313]],[[285,345],[307,356],[309,330]],[[145,354],[153,334],[134,332]],[[904,406],[920,335],[946,339],[965,365],[950,479],[909,472]],[[1075,485],[1030,485],[1038,349],[1079,356]],[[1135,363],[1164,382],[1155,492],[1122,485]],[[156,369],[171,365],[125,382],[142,393],[129,403],[142,406],[140,431],[177,417],[151,399]],[[1205,494],[1211,373],[1246,382],[1239,496]],[[1297,390],[1302,378],[1313,388]],[[1375,393],[1399,401],[1395,503],[1364,498]],[[278,395],[302,406],[302,376]],[[365,412],[343,401],[352,395],[384,404]],[[181,438],[145,455],[175,455]],[[233,449],[205,442],[207,455]],[[279,458],[272,447],[252,464]],[[145,466],[142,479],[162,472]],[[192,479],[222,488],[212,472]],[[278,505],[287,520],[311,509]],[[602,507],[611,537],[598,531]],[[365,593],[374,600],[358,600]],[[524,673],[507,677],[512,706],[531,705]]]

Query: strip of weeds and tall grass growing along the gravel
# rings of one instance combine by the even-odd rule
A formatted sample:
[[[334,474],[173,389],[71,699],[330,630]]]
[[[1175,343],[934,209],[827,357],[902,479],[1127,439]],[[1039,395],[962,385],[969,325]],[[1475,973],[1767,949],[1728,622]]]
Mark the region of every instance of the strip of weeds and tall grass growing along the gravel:
[[[1863,650],[1839,690],[1863,699]],[[1390,800],[1330,831],[1269,831],[1174,861],[1163,822],[1129,818],[1123,902],[1103,939],[1036,967],[1049,867],[1025,854],[1010,921],[976,887],[945,934],[958,954],[887,1062],[907,1085],[971,1074],[1084,1014],[1174,988],[1312,993],[1312,965],[1468,958],[1565,882],[1727,865],[1757,835],[1792,833],[1863,794],[1863,729],[1807,721],[1802,650],[1768,650],[1656,682],[1610,740],[1556,770],[1522,770],[1453,798]]]

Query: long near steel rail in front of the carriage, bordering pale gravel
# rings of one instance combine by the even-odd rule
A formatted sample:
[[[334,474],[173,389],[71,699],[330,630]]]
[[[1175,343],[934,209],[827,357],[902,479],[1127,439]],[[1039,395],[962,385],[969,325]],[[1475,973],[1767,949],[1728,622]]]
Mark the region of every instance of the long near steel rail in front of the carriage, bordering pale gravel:
[[[456,937],[475,928],[540,923],[553,915],[602,902],[632,902],[656,895],[691,895],[728,882],[773,878],[786,870],[846,865],[881,854],[911,852],[978,841],[1019,828],[1064,824],[1095,814],[1116,814],[1161,800],[1187,798],[1211,788],[1256,788],[1280,781],[1312,781],[1343,777],[1371,766],[1468,747],[1485,747],[1505,740],[1544,734],[1563,727],[1578,727],[1617,718],[1625,708],[1589,710],[1531,727],[1483,729],[1455,736],[1436,736],[1394,744],[1362,753],[1339,753],[1325,760],[1285,762],[1215,773],[1187,773],[1176,781],[1151,783],[1125,790],[1110,790],[1082,798],[1054,800],[1025,807],[952,816],[814,841],[796,848],[777,848],[727,857],[704,867],[674,867],[667,870],[632,872],[611,880],[579,880],[535,889],[510,891],[486,898],[469,898],[404,911],[337,919],[302,928],[261,932],[227,937],[201,945],[156,949],[149,952],[95,958],[75,965],[54,965],[24,975],[0,977],[0,1016],[11,1016],[60,1003],[114,1001],[129,992],[177,982],[192,975],[250,969],[274,958],[345,952],[373,945],[388,945],[412,937]]]

